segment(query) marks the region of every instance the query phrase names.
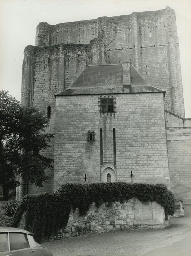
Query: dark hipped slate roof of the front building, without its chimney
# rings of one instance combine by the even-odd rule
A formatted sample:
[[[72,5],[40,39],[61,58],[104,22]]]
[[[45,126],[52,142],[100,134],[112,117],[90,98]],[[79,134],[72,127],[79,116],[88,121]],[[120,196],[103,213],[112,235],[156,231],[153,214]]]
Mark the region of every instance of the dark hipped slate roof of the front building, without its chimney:
[[[55,96],[155,91],[165,93],[148,84],[132,64],[130,75],[131,84],[123,86],[122,64],[87,66],[68,89]]]

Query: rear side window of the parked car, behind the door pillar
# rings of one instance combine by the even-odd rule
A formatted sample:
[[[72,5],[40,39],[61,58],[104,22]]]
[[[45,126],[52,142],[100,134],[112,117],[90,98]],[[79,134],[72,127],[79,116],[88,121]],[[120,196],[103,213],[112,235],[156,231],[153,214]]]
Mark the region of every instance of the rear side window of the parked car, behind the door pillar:
[[[9,233],[9,240],[10,240],[10,249],[18,250],[29,248],[27,235],[23,233]]]

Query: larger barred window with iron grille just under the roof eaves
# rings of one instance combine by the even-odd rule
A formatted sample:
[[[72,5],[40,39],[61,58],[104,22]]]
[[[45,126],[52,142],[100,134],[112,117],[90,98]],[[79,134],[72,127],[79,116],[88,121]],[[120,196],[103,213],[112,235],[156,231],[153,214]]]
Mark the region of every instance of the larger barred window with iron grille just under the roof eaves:
[[[116,113],[116,97],[101,96],[99,97],[99,113],[101,116],[114,116]]]

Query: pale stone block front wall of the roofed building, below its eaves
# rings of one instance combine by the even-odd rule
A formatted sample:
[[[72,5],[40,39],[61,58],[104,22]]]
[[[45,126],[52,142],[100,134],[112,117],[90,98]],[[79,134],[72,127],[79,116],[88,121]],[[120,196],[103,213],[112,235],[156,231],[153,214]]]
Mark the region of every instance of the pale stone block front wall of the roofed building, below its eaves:
[[[134,182],[169,186],[163,93],[117,94],[114,117],[100,116],[99,96],[56,97],[54,191],[66,182],[100,182],[102,165],[113,166],[116,181],[131,182],[132,170]],[[92,144],[87,142],[88,131],[95,132]]]

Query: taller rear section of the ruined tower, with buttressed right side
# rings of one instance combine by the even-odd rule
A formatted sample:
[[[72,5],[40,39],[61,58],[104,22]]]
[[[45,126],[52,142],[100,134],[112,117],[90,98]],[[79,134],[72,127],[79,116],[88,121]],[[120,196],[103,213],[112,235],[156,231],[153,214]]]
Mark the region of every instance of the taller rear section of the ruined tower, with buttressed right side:
[[[166,91],[165,109],[184,117],[176,17],[171,8],[57,25],[42,22],[36,45],[89,44],[93,38],[102,40],[106,64],[132,61],[145,80]]]

